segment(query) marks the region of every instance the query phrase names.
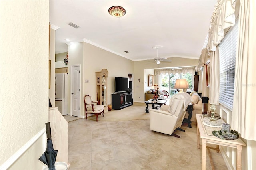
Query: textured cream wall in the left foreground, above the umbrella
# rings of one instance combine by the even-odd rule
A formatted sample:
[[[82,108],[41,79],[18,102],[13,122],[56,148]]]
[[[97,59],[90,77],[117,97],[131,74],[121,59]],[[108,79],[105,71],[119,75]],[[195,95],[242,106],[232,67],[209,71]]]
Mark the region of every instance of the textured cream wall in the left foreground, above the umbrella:
[[[48,121],[49,0],[1,0],[0,21],[1,165]]]

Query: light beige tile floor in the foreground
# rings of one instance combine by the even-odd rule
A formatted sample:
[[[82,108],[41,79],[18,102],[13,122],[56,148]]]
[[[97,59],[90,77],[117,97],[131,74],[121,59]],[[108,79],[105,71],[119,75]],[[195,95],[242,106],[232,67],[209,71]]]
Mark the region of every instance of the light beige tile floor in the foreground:
[[[78,119],[68,123],[70,170],[200,170],[196,123],[176,138],[149,130],[149,119],[103,122]],[[215,170],[226,170],[221,153],[210,150]],[[212,169],[206,153],[206,169]]]

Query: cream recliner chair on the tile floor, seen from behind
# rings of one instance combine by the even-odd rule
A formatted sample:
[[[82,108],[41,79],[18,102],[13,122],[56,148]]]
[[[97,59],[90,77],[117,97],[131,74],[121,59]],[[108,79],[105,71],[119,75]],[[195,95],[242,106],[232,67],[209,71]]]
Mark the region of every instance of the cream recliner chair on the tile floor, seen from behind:
[[[149,109],[150,130],[180,138],[173,132],[176,129],[185,132],[180,127],[190,102],[191,97],[188,93],[177,93],[170,99],[169,105],[162,105],[159,110]]]

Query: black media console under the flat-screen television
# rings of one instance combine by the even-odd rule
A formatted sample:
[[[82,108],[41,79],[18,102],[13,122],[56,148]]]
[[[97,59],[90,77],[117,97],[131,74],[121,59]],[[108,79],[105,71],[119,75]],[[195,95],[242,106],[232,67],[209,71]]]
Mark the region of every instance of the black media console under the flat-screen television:
[[[133,105],[132,92],[115,92],[112,94],[112,109],[120,110]]]

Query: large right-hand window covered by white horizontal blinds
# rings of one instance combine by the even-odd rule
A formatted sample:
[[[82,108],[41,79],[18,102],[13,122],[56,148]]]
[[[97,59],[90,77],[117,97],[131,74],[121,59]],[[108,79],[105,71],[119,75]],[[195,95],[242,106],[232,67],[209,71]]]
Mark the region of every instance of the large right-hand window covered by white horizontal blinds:
[[[234,98],[236,45],[238,22],[228,30],[219,45],[220,55],[220,104],[232,110]]]

